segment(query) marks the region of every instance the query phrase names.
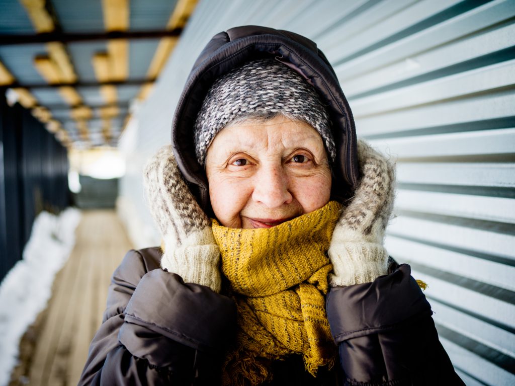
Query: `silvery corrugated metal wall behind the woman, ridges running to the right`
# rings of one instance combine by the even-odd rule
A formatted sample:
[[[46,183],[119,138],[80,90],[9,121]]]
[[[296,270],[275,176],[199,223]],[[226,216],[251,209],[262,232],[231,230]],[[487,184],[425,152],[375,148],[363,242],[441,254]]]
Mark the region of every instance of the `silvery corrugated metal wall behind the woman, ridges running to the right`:
[[[145,228],[132,222],[135,244],[159,241],[142,205],[142,164],[169,142],[204,44],[237,25],[299,32],[333,63],[358,136],[398,160],[387,247],[428,283],[457,371],[469,386],[515,384],[514,23],[512,0],[200,2],[123,141],[121,208]]]

